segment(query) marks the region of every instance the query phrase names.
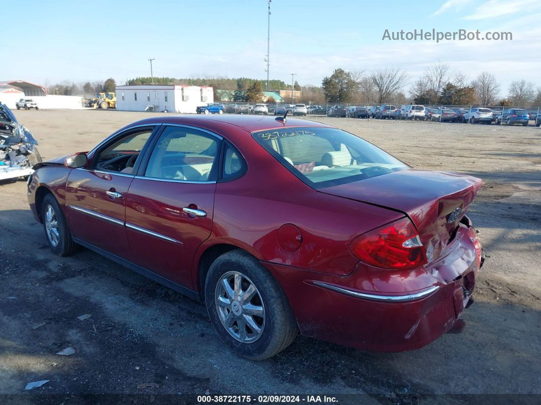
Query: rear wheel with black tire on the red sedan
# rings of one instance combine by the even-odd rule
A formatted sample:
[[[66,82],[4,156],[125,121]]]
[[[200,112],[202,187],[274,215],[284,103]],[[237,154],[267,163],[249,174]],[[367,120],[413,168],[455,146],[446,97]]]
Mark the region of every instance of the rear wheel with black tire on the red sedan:
[[[278,354],[297,334],[291,308],[278,282],[245,251],[229,251],[212,263],[204,298],[222,340],[249,360],[265,360]]]

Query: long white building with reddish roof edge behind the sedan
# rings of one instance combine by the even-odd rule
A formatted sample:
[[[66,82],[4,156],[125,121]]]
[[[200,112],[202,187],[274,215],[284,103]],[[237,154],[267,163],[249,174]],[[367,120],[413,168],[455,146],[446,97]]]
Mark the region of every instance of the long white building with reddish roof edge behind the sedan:
[[[213,102],[213,88],[207,86],[143,84],[116,87],[117,110],[195,113],[197,106]]]

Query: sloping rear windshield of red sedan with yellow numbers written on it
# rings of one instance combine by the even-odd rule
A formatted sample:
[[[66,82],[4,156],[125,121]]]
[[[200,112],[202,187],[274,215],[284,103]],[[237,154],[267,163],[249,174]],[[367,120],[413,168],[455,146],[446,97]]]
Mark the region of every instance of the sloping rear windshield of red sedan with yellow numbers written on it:
[[[351,183],[408,168],[387,152],[337,128],[284,128],[257,131],[252,136],[313,188]]]

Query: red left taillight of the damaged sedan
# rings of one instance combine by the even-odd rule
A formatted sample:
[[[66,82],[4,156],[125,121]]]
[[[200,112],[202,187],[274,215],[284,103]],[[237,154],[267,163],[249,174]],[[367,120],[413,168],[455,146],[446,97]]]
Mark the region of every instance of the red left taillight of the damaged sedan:
[[[426,264],[425,248],[409,218],[355,237],[349,250],[359,260],[384,269],[411,269]]]

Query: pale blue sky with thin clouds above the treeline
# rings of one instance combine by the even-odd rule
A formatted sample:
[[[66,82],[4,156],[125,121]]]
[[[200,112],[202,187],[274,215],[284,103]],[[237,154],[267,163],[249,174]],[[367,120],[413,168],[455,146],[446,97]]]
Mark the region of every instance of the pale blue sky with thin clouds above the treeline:
[[[42,85],[108,77],[266,78],[267,0],[17,0],[2,5],[0,81]],[[450,63],[541,86],[541,2],[272,0],[271,79],[320,85],[334,69],[400,67],[410,82]],[[512,32],[512,41],[388,41],[385,30]]]

